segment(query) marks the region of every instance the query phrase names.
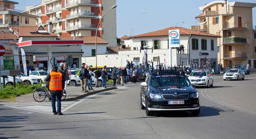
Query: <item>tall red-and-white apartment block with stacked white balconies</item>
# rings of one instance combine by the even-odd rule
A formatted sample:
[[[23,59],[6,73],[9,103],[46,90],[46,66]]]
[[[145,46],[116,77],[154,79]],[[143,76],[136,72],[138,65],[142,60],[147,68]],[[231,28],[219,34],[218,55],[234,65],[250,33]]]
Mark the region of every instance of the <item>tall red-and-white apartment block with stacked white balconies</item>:
[[[27,8],[30,14],[39,16],[37,26],[52,22],[58,36],[95,36],[102,15],[114,5],[116,0],[42,0]],[[105,15],[97,36],[116,46],[116,9]]]

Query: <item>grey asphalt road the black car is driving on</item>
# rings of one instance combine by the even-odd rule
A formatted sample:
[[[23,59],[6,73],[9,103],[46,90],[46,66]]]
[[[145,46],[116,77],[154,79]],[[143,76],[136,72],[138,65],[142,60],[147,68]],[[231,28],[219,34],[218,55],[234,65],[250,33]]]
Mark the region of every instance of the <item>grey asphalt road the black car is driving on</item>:
[[[140,110],[140,84],[76,100],[63,116],[0,105],[0,139],[255,139],[256,75],[197,88],[201,113]]]

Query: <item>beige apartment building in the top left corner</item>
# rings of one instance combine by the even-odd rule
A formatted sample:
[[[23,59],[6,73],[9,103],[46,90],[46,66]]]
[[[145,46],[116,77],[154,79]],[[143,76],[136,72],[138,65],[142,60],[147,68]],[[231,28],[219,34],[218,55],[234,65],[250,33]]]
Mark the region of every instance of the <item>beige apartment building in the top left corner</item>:
[[[0,0],[0,30],[11,26],[35,26],[38,16],[30,15],[26,11],[15,9],[14,1]]]

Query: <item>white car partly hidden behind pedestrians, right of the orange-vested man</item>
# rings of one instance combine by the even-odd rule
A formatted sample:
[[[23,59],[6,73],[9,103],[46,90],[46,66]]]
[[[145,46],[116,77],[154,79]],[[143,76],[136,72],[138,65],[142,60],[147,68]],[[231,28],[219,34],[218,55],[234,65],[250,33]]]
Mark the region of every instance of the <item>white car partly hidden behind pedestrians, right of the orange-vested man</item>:
[[[71,86],[81,85],[80,79],[79,79],[80,69],[79,70],[71,70]],[[93,79],[92,79],[92,85],[95,85],[95,74],[93,73]],[[67,81],[67,84],[70,83],[70,80]],[[102,86],[102,78],[99,77],[98,79],[98,86]]]

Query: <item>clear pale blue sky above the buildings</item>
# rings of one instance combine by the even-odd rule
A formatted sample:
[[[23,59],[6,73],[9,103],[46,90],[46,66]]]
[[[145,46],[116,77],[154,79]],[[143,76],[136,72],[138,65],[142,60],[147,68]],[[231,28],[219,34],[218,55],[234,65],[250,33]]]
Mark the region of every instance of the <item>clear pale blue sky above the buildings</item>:
[[[15,9],[24,10],[26,5],[37,5],[41,0],[13,0]],[[171,26],[190,28],[199,24],[195,17],[202,14],[198,9],[213,0],[116,0],[117,37],[157,31]],[[256,3],[256,0],[236,0]],[[146,11],[143,11],[146,9]],[[142,14],[142,13],[147,14]],[[145,15],[145,31],[144,31]],[[196,22],[196,23],[195,23]],[[256,25],[256,8],[253,8],[253,25]],[[131,29],[132,28],[132,29]]]

